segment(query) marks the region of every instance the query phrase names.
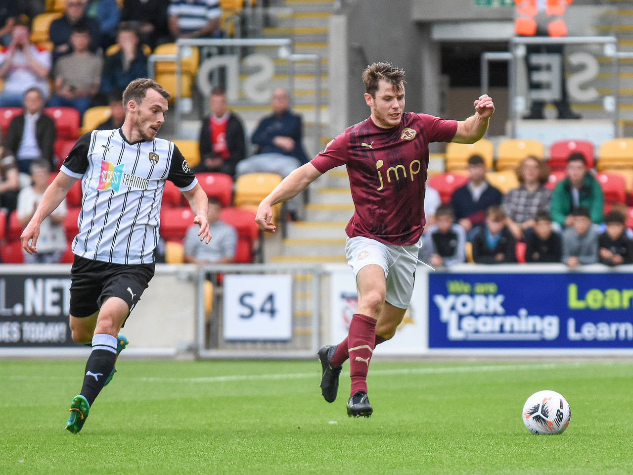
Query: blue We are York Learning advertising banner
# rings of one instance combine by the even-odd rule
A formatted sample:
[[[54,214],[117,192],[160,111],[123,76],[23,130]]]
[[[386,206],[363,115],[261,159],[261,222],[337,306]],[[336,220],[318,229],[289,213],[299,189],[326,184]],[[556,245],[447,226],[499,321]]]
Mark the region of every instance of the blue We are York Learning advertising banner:
[[[429,348],[633,348],[633,275],[431,272]]]

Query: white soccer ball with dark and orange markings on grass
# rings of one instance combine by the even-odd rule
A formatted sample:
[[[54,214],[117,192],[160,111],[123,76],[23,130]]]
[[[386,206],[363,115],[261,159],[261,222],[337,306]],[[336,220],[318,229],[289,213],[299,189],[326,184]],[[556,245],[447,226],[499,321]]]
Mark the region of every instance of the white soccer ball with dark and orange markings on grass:
[[[532,434],[560,434],[569,425],[572,410],[556,391],[539,391],[523,405],[523,424]]]

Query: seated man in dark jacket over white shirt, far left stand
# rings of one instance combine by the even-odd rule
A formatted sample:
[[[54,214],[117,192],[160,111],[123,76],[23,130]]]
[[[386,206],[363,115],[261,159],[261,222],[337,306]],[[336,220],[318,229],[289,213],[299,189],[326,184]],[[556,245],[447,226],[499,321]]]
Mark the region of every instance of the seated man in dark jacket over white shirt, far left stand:
[[[21,187],[30,183],[31,163],[44,160],[54,169],[53,144],[55,143],[55,123],[53,119],[42,113],[44,98],[42,91],[31,87],[24,94],[24,113],[16,115],[9,124],[4,137],[4,146],[14,151],[18,170],[26,177]]]

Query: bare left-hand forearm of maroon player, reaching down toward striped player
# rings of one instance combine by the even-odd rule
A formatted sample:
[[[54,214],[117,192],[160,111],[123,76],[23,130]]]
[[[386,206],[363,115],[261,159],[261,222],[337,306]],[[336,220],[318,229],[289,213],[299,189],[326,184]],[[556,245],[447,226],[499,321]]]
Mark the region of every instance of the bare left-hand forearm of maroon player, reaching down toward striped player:
[[[315,166],[310,162],[292,170],[290,175],[285,177],[266,198],[261,200],[255,217],[255,222],[260,229],[262,231],[275,232],[277,226],[273,225],[271,221],[273,217],[272,206],[294,198],[294,196],[297,196],[299,192],[306,189],[306,187],[320,177],[320,175],[321,172],[316,170]]]

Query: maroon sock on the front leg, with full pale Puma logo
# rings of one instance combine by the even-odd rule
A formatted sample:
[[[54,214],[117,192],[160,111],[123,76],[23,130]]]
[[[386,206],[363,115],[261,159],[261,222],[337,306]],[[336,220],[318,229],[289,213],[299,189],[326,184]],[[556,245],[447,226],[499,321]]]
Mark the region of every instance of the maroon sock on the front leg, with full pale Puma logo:
[[[376,340],[376,320],[354,314],[349,324],[349,376],[352,379],[350,396],[358,391],[367,393],[367,371]]]

